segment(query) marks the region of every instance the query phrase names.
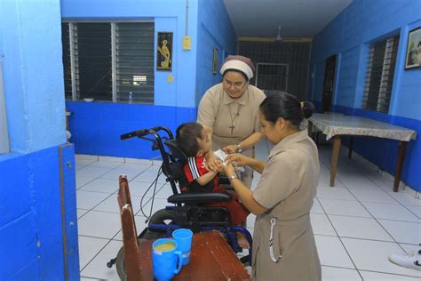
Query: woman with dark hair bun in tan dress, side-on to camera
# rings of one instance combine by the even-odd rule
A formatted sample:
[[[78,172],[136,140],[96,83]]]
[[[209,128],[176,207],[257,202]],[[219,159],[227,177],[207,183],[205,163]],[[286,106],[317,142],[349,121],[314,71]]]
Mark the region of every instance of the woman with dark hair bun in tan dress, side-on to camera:
[[[303,119],[313,104],[288,93],[273,94],[260,105],[259,119],[274,143],[267,162],[239,154],[224,168],[238,196],[257,214],[253,233],[253,280],[321,280],[322,269],[310,223],[310,209],[319,181],[317,148]],[[233,167],[249,165],[261,173],[254,191],[246,188]]]

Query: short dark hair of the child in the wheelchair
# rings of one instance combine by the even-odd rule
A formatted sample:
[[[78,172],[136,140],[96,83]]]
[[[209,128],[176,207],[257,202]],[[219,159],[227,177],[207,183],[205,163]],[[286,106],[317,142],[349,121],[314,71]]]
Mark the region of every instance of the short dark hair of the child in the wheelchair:
[[[203,125],[196,122],[180,124],[177,128],[177,144],[187,157],[195,157],[199,151],[197,139],[202,140]]]

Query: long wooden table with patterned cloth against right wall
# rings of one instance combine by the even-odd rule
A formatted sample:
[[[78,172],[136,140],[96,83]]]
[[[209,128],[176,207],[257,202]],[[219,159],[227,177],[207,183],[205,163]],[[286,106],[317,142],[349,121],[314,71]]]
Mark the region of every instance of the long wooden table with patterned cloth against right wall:
[[[400,141],[393,184],[393,191],[398,191],[407,143],[410,140],[416,139],[417,132],[361,116],[325,115],[317,113],[308,119],[308,132],[310,136],[312,135],[314,126],[326,134],[326,140],[333,138],[332,158],[330,163],[331,187],[335,185],[335,177],[338,170],[338,155],[342,136],[345,135],[350,137],[348,151],[349,158],[351,158],[352,155],[353,137],[355,136],[377,137]]]

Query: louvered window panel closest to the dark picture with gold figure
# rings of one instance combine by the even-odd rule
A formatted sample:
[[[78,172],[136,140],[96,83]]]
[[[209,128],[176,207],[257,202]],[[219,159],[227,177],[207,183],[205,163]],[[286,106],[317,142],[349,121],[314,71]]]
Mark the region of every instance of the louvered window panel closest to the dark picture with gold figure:
[[[124,22],[115,27],[118,100],[154,103],[154,22]]]

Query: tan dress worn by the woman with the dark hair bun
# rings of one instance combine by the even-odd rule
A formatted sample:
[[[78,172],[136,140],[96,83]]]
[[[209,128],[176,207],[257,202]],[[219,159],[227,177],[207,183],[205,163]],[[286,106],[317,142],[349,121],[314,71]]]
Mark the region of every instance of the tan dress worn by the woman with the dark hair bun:
[[[268,211],[256,218],[253,234],[253,280],[321,280],[322,268],[310,223],[310,209],[319,181],[317,148],[306,130],[274,146],[254,199]],[[274,258],[269,251],[271,218]]]

